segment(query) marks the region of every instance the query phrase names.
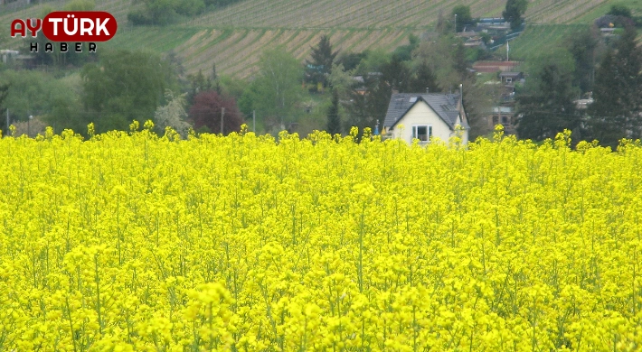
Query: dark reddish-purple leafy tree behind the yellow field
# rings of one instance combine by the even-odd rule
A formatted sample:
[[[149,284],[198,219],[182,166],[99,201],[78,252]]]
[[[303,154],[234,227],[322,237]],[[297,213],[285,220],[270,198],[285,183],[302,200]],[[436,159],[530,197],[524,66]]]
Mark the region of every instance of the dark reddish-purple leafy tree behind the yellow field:
[[[223,131],[221,131],[221,118]],[[198,93],[194,97],[194,105],[190,107],[190,119],[194,122],[195,129],[206,126],[209,131],[216,134],[239,131],[243,123],[236,101],[212,90]]]

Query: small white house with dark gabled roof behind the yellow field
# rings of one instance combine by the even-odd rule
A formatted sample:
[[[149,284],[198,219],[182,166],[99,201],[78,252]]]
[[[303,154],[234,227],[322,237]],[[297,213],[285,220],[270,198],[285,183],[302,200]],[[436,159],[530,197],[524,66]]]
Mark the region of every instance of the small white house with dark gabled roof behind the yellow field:
[[[448,143],[461,126],[462,143],[468,143],[468,125],[459,94],[398,93],[393,94],[383,122],[383,134],[412,143],[428,144],[439,137]]]

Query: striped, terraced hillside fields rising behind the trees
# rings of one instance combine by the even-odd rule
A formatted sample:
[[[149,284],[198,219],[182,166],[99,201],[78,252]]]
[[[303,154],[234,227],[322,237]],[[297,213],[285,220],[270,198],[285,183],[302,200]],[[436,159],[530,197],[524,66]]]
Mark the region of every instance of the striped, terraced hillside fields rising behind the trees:
[[[0,25],[8,28],[14,18],[37,16],[46,5],[60,8],[64,3],[52,1],[5,11],[0,13]],[[590,23],[607,12],[610,3],[607,0],[535,0],[530,2],[526,18],[529,23]],[[637,0],[625,3],[637,12]],[[128,26],[127,13],[134,6],[131,0],[97,2],[97,9],[114,14],[120,26],[115,38],[103,44],[104,47],[175,50],[184,59],[188,72],[210,69],[216,63],[221,73],[246,78],[255,70],[260,53],[268,47],[284,44],[303,60],[318,38],[328,34],[335,47],[342,51],[392,50],[404,44],[409,33],[433,28],[439,14],[450,14],[458,4],[470,5],[475,16],[500,16],[505,1],[245,0],[168,27]],[[2,9],[0,7],[0,11]],[[541,48],[539,45],[546,44],[535,42],[539,43],[529,50],[537,51]],[[3,49],[16,45],[17,41],[12,42],[3,34],[0,41]]]

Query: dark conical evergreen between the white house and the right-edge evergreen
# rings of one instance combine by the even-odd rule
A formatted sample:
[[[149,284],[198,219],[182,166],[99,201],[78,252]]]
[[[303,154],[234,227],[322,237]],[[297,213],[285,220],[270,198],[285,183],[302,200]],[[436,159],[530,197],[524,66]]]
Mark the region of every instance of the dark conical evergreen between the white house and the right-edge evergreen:
[[[541,141],[564,129],[578,131],[581,116],[573,103],[571,76],[549,64],[531,82],[534,86],[516,97],[520,138]]]

